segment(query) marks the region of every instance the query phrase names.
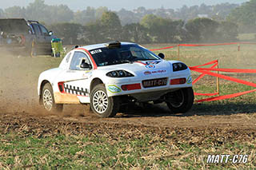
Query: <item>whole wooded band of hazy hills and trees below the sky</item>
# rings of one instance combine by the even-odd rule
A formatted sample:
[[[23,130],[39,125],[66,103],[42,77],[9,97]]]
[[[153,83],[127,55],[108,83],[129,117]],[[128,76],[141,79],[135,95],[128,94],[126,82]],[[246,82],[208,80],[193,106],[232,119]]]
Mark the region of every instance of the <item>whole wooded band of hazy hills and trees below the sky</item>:
[[[65,44],[88,44],[113,40],[138,43],[231,42],[238,33],[255,32],[256,0],[242,6],[182,6],[181,9],[119,10],[106,7],[72,11],[68,6],[49,6],[34,0],[29,6],[0,10],[0,18],[38,20]]]

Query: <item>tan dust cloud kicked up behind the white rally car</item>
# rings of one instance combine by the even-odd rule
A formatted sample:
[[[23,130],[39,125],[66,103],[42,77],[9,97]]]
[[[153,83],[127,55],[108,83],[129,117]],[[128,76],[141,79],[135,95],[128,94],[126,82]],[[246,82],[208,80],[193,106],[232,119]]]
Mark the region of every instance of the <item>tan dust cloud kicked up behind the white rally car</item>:
[[[36,62],[34,57],[0,49],[0,113],[49,115],[38,103],[38,76],[44,69]],[[62,116],[83,115],[86,110],[85,106],[68,105]]]

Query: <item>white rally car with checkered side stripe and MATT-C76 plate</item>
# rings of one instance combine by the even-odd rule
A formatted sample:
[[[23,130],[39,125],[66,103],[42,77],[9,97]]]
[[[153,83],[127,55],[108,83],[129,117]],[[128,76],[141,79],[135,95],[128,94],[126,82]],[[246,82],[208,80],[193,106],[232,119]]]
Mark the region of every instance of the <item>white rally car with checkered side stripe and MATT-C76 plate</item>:
[[[184,63],[128,42],[71,50],[58,68],[40,74],[38,95],[50,112],[62,111],[64,104],[90,104],[98,117],[114,117],[130,102],[166,102],[171,113],[186,113],[194,102]]]

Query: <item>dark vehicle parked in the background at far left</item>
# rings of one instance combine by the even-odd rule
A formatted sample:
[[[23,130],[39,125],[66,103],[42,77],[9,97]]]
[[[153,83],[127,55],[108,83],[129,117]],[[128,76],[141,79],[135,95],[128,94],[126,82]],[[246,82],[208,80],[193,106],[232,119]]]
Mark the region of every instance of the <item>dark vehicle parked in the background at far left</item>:
[[[51,40],[56,38],[37,21],[23,18],[0,19],[0,47],[26,54],[51,54]]]

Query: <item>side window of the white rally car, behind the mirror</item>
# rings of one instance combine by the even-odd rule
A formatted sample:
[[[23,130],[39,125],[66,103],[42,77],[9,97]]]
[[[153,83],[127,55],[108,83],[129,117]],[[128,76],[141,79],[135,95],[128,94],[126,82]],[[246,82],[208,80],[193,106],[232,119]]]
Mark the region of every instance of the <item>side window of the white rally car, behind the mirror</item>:
[[[78,52],[78,51],[74,52],[74,55],[70,63],[70,69],[83,70],[80,67],[82,62],[86,62],[88,65],[91,65],[90,60],[88,59],[85,53]]]

